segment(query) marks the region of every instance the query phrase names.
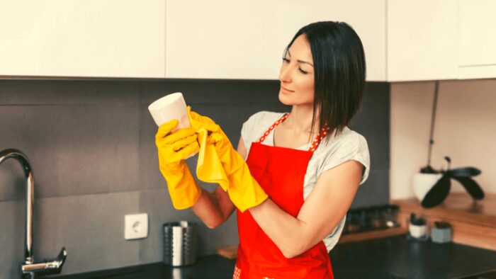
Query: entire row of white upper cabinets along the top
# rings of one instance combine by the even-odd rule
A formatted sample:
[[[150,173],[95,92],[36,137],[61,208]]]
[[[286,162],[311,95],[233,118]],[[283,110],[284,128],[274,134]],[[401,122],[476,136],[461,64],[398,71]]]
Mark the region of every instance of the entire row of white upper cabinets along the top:
[[[496,77],[495,0],[1,1],[0,78],[278,79],[299,28],[344,21],[367,81]]]

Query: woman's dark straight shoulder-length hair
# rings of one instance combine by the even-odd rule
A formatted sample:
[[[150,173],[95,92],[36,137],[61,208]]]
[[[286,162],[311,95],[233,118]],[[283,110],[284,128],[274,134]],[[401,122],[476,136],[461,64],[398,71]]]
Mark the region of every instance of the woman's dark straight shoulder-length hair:
[[[302,34],[310,44],[315,73],[311,132],[314,132],[316,111],[319,111],[319,131],[326,124],[329,127],[327,141],[332,131],[335,130],[336,135],[342,132],[361,106],[365,91],[365,53],[359,35],[350,25],[321,21],[298,30],[284,55]]]

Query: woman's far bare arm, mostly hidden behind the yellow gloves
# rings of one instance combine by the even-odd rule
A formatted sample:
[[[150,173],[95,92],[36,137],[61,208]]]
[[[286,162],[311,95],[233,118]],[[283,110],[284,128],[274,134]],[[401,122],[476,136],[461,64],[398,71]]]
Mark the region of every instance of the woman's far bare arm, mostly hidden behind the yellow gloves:
[[[242,137],[239,139],[237,152],[243,158],[247,154],[247,149],[244,147]],[[227,192],[225,192],[222,187],[218,186],[213,193],[203,189],[203,193],[191,207],[191,210],[207,227],[214,229],[229,219],[230,215],[235,210],[235,205],[232,204]]]

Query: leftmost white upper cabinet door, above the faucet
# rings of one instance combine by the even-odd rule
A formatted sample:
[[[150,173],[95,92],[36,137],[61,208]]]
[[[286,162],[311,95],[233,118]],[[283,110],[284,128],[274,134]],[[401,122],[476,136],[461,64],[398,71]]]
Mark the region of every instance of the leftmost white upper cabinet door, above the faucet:
[[[0,76],[164,77],[163,0],[1,1]]]

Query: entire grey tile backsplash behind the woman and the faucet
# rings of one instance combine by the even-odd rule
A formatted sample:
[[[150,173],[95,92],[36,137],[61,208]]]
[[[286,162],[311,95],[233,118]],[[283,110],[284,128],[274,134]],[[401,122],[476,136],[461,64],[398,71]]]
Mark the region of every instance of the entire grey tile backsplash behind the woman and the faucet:
[[[55,257],[65,246],[63,274],[162,261],[162,224],[198,222],[190,210],[171,205],[147,110],[175,91],[235,146],[249,115],[289,110],[278,103],[276,81],[0,81],[0,149],[21,149],[33,166],[35,258]],[[389,100],[388,84],[367,84],[350,125],[366,137],[372,168],[352,207],[388,203]],[[188,166],[194,175],[196,157]],[[24,183],[16,161],[1,164],[0,278],[16,278],[23,258]],[[149,215],[148,237],[125,241],[124,215],[141,212]],[[237,245],[235,215],[217,229],[201,223],[199,229],[200,254]]]

